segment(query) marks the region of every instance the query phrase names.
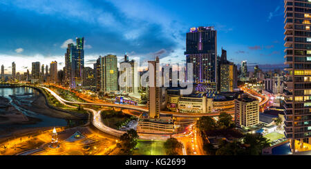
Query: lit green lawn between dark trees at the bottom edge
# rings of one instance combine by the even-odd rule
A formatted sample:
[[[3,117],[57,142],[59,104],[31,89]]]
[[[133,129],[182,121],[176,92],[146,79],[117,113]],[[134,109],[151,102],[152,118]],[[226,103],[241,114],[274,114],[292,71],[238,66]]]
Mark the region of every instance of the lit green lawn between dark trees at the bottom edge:
[[[136,148],[133,150],[133,155],[166,155],[164,150],[165,141],[145,141],[138,140]]]

